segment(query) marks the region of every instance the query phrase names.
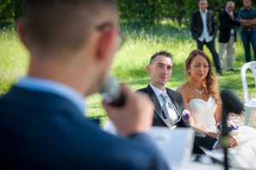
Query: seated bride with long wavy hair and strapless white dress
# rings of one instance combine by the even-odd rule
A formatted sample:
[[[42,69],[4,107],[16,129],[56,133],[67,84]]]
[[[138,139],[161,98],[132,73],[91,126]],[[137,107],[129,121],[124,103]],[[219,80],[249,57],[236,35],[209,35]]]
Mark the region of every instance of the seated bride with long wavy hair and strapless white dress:
[[[185,109],[191,116],[189,123],[196,135],[209,135],[218,139],[216,124],[221,122],[221,100],[218,94],[217,78],[207,54],[194,50],[185,61],[187,81],[177,88],[183,96]],[[215,150],[205,150],[208,156],[223,161],[223,150],[217,142]],[[241,126],[236,137],[230,136],[230,166],[244,169],[256,169],[256,130]]]

